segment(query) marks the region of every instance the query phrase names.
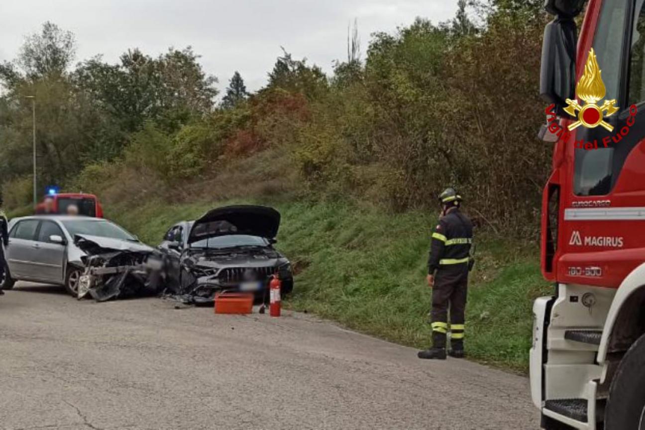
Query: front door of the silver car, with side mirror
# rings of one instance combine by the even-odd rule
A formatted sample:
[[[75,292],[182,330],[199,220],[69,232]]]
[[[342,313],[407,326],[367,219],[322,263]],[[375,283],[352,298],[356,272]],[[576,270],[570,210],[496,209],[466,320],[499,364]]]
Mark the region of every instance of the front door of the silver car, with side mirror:
[[[37,231],[34,253],[34,266],[37,267],[39,279],[52,284],[63,284],[63,268],[66,245],[52,242],[51,237],[64,239],[65,235],[60,226],[53,220],[42,220]]]

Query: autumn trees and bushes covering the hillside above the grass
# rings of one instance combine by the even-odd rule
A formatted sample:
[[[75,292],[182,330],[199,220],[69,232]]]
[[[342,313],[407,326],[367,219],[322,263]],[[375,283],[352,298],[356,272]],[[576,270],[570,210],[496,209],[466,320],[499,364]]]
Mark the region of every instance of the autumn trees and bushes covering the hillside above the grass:
[[[236,72],[219,103],[217,79],[190,47],[73,64],[74,35],[45,23],[17,59],[0,64],[5,200],[30,202],[26,96],[35,95],[41,184],[101,191],[130,172],[133,188],[172,190],[276,151],[307,198],[404,211],[434,208],[451,185],[481,224],[534,233],[552,149],[535,139],[541,4],[459,0],[448,22],[417,18],[373,34],[364,59],[354,26],[347,58],[329,75],[283,50],[263,88],[248,93]]]

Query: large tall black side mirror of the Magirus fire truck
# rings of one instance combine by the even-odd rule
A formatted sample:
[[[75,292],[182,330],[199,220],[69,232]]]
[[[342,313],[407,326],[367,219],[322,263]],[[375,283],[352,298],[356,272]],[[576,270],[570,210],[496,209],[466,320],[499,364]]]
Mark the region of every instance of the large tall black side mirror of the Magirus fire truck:
[[[542,43],[540,95],[564,115],[566,99],[575,99],[577,34],[573,19],[558,17],[546,24]]]

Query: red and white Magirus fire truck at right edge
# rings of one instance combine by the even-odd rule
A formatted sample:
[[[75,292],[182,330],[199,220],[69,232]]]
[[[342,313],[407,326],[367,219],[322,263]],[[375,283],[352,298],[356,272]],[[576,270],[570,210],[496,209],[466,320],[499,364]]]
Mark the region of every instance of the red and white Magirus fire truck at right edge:
[[[573,130],[555,142],[542,199],[542,273],[555,291],[533,305],[531,395],[544,429],[644,430],[645,2],[545,4],[555,19],[541,94],[559,130]]]

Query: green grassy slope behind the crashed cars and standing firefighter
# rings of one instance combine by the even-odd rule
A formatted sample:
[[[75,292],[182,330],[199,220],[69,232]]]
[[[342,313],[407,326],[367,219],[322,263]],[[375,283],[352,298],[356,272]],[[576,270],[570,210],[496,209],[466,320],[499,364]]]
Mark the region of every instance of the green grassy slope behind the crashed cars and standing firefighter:
[[[239,203],[234,201],[233,203]],[[112,207],[108,215],[144,242],[157,244],[182,219],[232,202]],[[277,248],[293,262],[288,305],[364,333],[426,347],[431,292],[425,284],[429,231],[421,212],[391,214],[354,204],[277,203],[283,224]],[[528,368],[533,298],[548,294],[534,249],[477,238],[471,275],[466,347],[480,362]]]

